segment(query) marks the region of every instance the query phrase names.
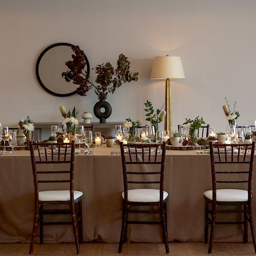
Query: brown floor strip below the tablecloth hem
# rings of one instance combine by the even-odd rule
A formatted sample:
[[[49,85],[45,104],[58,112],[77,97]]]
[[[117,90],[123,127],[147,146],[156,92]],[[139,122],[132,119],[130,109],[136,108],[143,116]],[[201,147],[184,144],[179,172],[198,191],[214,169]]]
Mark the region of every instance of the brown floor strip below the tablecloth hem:
[[[164,245],[153,243],[127,243],[118,254],[118,244],[84,243],[80,246],[81,254],[94,255],[164,255]],[[169,243],[168,255],[208,255],[208,244],[204,243]],[[28,243],[0,244],[0,255],[28,255]],[[74,243],[35,244],[33,255],[77,255]],[[214,243],[211,255],[255,255],[252,243]]]

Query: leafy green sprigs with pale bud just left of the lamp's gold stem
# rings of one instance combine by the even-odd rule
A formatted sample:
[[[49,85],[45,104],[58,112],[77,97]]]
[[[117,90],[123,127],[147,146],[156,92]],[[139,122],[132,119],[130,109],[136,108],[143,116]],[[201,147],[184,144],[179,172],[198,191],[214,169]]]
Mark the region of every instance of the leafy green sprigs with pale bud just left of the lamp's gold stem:
[[[144,103],[146,106],[145,112],[146,113],[146,121],[150,121],[152,126],[155,127],[155,133],[159,131],[159,124],[164,120],[166,115],[165,111],[162,111],[164,104],[162,105],[161,109],[157,109],[156,113],[154,114],[154,107],[151,101],[146,100]]]

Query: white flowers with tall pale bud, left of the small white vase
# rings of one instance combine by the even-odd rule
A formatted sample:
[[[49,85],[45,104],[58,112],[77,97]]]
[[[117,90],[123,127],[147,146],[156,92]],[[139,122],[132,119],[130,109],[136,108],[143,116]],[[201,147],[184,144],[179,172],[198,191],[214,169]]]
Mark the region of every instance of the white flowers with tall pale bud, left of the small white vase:
[[[66,109],[64,106],[59,106],[59,110],[61,115],[65,118],[61,124],[67,125],[67,133],[70,135],[75,135],[76,133],[76,125],[78,125],[78,120],[76,119],[78,112],[76,111],[76,107],[74,106],[74,109],[72,112],[66,113]]]

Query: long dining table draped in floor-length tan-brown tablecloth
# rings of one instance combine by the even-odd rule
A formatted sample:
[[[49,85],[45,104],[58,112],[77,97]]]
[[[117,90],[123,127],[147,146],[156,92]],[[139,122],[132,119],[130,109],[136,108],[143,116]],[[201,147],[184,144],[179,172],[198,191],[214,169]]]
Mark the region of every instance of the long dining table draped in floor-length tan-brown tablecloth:
[[[118,154],[111,154],[115,151]],[[168,193],[168,241],[204,241],[204,197],[211,189],[207,152],[166,151],[164,190]],[[255,170],[255,166],[254,166]],[[120,238],[123,191],[120,148],[92,148],[75,155],[74,187],[83,191],[83,240],[117,243]],[[253,183],[256,191],[256,183]],[[256,201],[253,200],[255,213]],[[0,242],[30,242],[34,183],[29,151],[0,156]],[[230,217],[230,216],[229,216]],[[243,219],[243,216],[231,218]],[[138,218],[135,216],[134,218]],[[143,217],[150,218],[150,217]],[[156,218],[156,217],[154,217]],[[254,215],[254,222],[256,221]],[[249,229],[250,231],[250,229]],[[39,233],[39,232],[38,232]],[[73,242],[72,226],[47,226],[45,242]],[[129,225],[131,242],[162,242],[159,225]],[[216,226],[215,241],[242,242],[243,225]],[[249,240],[251,236],[249,233]]]

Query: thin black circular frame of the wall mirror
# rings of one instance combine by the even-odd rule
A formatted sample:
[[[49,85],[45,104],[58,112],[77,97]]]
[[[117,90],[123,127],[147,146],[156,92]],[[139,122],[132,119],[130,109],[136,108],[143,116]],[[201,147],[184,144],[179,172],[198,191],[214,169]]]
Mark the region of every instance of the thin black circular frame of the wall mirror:
[[[46,53],[47,51],[49,51],[50,49],[52,49],[52,48],[54,48],[54,47],[58,47],[58,46],[70,46],[70,47],[72,47],[72,46],[74,46],[74,45],[69,44],[68,42],[58,42],[57,44],[53,44],[53,45],[50,45],[49,47],[47,47],[44,51],[41,52],[41,54],[39,55],[39,57],[38,57],[38,59],[37,59],[37,61],[36,61],[35,73],[36,73],[36,78],[37,78],[37,80],[38,80],[40,86],[41,86],[45,91],[47,91],[48,93],[50,93],[50,94],[52,94],[52,95],[54,95],[54,96],[58,96],[58,97],[67,97],[67,96],[71,96],[71,95],[76,94],[76,90],[73,91],[73,92],[70,92],[70,93],[65,93],[65,94],[64,94],[64,93],[63,93],[63,94],[61,94],[61,93],[55,93],[55,92],[51,91],[50,89],[48,89],[48,88],[46,87],[46,85],[42,82],[42,80],[41,80],[41,78],[40,78],[40,76],[39,76],[39,64],[40,64],[41,58],[45,55],[45,53]],[[89,75],[90,75],[90,65],[89,65],[88,58],[87,58],[87,56],[86,56],[85,54],[84,54],[84,57],[85,57],[85,59],[86,59],[86,65],[87,65],[87,77],[89,77]],[[67,60],[67,61],[68,61],[68,60]],[[63,79],[64,79],[64,78],[63,78]],[[74,85],[75,85],[75,84],[74,84]]]

